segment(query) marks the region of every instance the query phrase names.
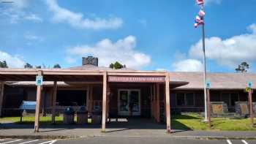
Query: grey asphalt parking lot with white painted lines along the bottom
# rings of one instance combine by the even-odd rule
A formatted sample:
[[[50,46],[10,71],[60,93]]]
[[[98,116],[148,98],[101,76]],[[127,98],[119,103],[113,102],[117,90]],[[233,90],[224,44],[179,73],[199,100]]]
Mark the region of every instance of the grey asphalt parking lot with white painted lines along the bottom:
[[[23,140],[23,139],[5,139],[0,140],[0,144],[80,144],[80,143],[88,143],[88,144],[139,144],[139,143],[148,143],[148,144],[162,144],[162,143],[170,143],[170,144],[181,144],[181,143],[189,143],[189,144],[256,144],[256,140],[194,140],[194,139],[178,139],[178,138],[170,138],[170,137],[159,137],[159,138],[151,138],[151,137],[86,137],[80,139],[72,139],[72,140]]]

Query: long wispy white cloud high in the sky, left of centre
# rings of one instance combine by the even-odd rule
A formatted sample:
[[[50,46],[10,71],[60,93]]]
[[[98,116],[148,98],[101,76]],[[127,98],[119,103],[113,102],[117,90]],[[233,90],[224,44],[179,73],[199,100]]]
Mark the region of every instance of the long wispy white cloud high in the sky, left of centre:
[[[83,18],[83,14],[72,12],[59,7],[56,0],[47,0],[49,10],[53,12],[53,20],[56,23],[67,22],[78,29],[118,29],[123,24],[121,18]]]

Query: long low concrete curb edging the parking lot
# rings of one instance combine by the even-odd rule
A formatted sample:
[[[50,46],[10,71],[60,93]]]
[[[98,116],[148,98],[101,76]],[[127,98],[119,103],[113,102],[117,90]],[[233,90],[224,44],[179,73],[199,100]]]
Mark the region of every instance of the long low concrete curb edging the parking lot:
[[[0,135],[0,139],[78,139],[86,137],[151,137],[151,136],[124,136],[124,135]],[[256,137],[222,137],[222,136],[169,136],[169,138],[195,139],[195,140],[256,140]]]

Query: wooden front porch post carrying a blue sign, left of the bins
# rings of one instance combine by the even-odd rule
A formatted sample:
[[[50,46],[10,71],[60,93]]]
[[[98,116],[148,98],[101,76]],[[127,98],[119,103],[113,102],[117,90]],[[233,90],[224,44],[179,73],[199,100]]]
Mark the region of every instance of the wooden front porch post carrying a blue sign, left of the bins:
[[[37,75],[42,75],[42,71],[39,71]],[[36,113],[34,117],[34,132],[39,132],[41,91],[42,91],[42,86],[37,86],[37,104],[36,104]]]

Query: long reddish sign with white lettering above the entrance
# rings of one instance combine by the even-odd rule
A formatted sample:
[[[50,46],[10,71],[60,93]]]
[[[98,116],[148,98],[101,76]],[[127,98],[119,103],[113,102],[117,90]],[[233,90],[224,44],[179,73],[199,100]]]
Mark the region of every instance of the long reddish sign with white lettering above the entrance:
[[[161,76],[108,76],[108,82],[163,83]]]

